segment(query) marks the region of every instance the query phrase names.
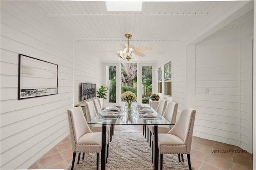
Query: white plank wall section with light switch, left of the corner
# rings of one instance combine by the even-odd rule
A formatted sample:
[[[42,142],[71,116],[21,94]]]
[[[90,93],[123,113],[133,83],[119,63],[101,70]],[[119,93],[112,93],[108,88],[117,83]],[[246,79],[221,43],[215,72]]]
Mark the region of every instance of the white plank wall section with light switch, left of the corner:
[[[238,57],[238,27],[222,29],[196,44],[194,136],[238,145]]]

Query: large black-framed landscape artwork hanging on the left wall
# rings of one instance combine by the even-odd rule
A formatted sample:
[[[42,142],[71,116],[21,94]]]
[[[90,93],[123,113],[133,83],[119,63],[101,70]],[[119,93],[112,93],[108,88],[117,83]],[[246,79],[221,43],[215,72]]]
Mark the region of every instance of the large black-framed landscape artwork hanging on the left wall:
[[[19,54],[18,99],[58,94],[58,65]]]

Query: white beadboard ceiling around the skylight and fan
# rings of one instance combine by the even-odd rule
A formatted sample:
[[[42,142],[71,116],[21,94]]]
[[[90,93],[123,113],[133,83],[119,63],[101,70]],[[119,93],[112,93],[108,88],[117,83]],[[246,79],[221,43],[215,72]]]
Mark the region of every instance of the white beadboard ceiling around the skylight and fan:
[[[142,12],[108,12],[105,2],[99,1],[33,3],[101,59],[116,60],[120,43],[127,43],[124,34],[130,33],[130,44],[153,48],[134,59],[159,60],[244,2],[143,2]]]

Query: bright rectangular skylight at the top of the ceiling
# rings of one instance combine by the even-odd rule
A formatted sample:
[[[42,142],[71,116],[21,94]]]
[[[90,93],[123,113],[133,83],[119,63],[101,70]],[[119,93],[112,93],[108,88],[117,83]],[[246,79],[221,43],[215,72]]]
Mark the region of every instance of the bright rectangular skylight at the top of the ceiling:
[[[141,11],[142,2],[120,2],[106,1],[108,11]]]

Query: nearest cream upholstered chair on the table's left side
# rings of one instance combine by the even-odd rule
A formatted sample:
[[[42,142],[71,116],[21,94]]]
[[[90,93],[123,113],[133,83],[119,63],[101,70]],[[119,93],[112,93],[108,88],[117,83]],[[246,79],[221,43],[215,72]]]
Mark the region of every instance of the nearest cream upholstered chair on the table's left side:
[[[86,122],[82,108],[73,107],[68,110],[68,124],[70,129],[70,140],[73,150],[72,167],[74,168],[74,162],[76,159],[76,152],[78,152],[78,162],[80,160],[81,152],[96,152],[97,153],[97,170],[99,167],[99,153],[102,149],[102,133],[92,132]],[[106,138],[108,134],[106,134]],[[106,140],[106,148],[108,152],[108,140]]]

